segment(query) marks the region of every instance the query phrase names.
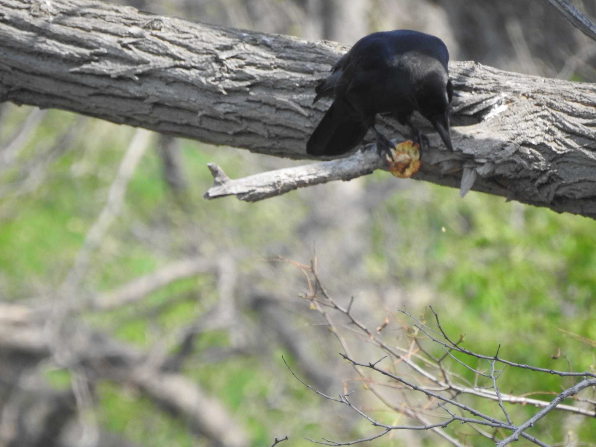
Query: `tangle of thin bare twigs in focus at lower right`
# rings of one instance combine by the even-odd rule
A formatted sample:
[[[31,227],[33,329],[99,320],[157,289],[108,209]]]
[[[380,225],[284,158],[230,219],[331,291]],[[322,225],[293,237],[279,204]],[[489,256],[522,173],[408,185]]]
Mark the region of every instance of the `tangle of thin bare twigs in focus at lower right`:
[[[294,263],[294,265],[297,265],[297,264]],[[349,441],[345,441],[345,442],[339,442],[337,440],[330,440],[327,438],[323,438],[322,441],[310,439],[312,442],[324,444],[324,445],[330,445],[330,446],[352,445],[352,444],[359,443],[359,442],[377,439],[378,437],[381,437],[384,434],[386,434],[392,430],[397,430],[397,429],[423,430],[424,429],[423,427],[427,427],[427,429],[439,430],[439,432],[437,432],[438,434],[446,434],[442,430],[446,427],[446,424],[451,423],[454,420],[459,420],[459,421],[461,421],[461,423],[471,424],[471,426],[474,427],[474,430],[476,430],[477,433],[481,434],[482,436],[493,439],[493,440],[495,440],[495,442],[498,442],[497,438],[495,436],[499,433],[501,434],[501,436],[499,436],[499,437],[507,439],[507,438],[505,438],[505,433],[504,433],[505,431],[507,431],[507,432],[515,433],[516,439],[519,437],[523,437],[524,439],[527,439],[530,442],[535,443],[536,445],[539,445],[541,447],[548,447],[548,445],[546,443],[542,442],[539,439],[536,439],[536,437],[525,432],[527,427],[532,426],[532,424],[535,423],[535,421],[539,420],[539,418],[541,418],[542,415],[547,414],[547,412],[554,411],[555,409],[559,409],[559,410],[562,409],[564,411],[575,412],[577,414],[582,414],[582,415],[586,415],[586,416],[592,416],[592,417],[596,416],[596,412],[592,412],[592,411],[581,409],[581,408],[576,408],[575,406],[572,406],[572,405],[561,404],[563,399],[570,398],[573,394],[578,392],[580,390],[578,388],[575,388],[575,392],[572,392],[572,390],[566,390],[565,392],[561,393],[561,395],[559,395],[558,398],[555,399],[554,401],[547,402],[547,401],[539,401],[538,399],[527,399],[527,398],[521,397],[521,396],[506,395],[506,394],[504,395],[501,393],[501,390],[499,389],[499,387],[497,386],[497,383],[496,383],[498,378],[500,377],[500,375],[504,372],[507,365],[510,365],[513,367],[519,367],[519,368],[523,368],[523,369],[527,369],[527,370],[532,370],[532,371],[549,372],[551,374],[560,375],[561,377],[566,376],[566,375],[574,375],[574,376],[584,375],[583,373],[567,373],[566,371],[547,370],[545,368],[536,368],[536,367],[531,367],[529,365],[521,365],[521,364],[516,364],[514,362],[504,361],[503,359],[499,358],[499,350],[501,347],[500,345],[499,345],[499,349],[496,350],[496,353],[493,356],[478,355],[476,353],[473,353],[470,350],[467,350],[464,347],[460,346],[461,342],[463,341],[463,336],[460,337],[460,340],[458,340],[457,343],[454,342],[454,340],[452,340],[448,336],[448,334],[446,333],[445,330],[443,330],[443,328],[440,324],[438,314],[434,311],[434,309],[432,309],[432,307],[430,308],[430,310],[433,312],[433,315],[435,316],[438,331],[434,330],[433,328],[428,327],[426,324],[424,324],[420,320],[416,319],[414,316],[410,315],[408,312],[405,312],[405,311],[399,311],[399,312],[405,313],[410,318],[414,319],[414,321],[417,322],[417,324],[414,325],[415,328],[418,328],[418,330],[420,330],[427,337],[429,337],[430,340],[440,344],[443,347],[446,354],[440,359],[440,361],[437,361],[437,359],[430,356],[429,353],[423,349],[421,344],[418,342],[415,334],[413,336],[414,339],[412,340],[412,343],[410,343],[408,349],[405,349],[405,348],[402,349],[399,347],[389,346],[386,343],[384,343],[383,340],[381,340],[377,336],[378,334],[374,333],[373,331],[368,330],[368,328],[364,324],[362,324],[360,321],[358,321],[357,319],[354,318],[354,316],[351,313],[351,309],[352,309],[352,305],[353,305],[353,298],[350,298],[349,305],[345,308],[342,305],[339,305],[337,302],[335,302],[333,297],[328,293],[328,291],[326,290],[324,285],[321,283],[321,280],[316,273],[316,261],[313,261],[311,263],[310,269],[306,265],[299,265],[299,268],[302,269],[303,273],[305,274],[305,277],[308,278],[309,289],[308,289],[308,293],[305,294],[305,297],[307,299],[311,300],[312,305],[316,309],[318,309],[319,312],[321,312],[321,314],[324,316],[325,319],[327,319],[327,322],[330,325],[331,331],[340,340],[340,343],[342,344],[342,346],[346,347],[347,343],[343,339],[343,337],[340,336],[340,334],[338,333],[337,326],[334,324],[333,319],[331,319],[330,312],[328,311],[328,309],[334,309],[336,311],[339,311],[340,313],[343,313],[343,315],[347,316],[347,318],[349,318],[349,326],[347,328],[349,328],[350,330],[353,330],[353,331],[357,331],[357,332],[359,331],[358,333],[362,333],[362,335],[366,336],[365,341],[373,343],[376,346],[380,347],[384,352],[386,352],[388,355],[390,355],[392,357],[392,359],[394,359],[394,358],[397,359],[397,361],[394,362],[394,364],[399,363],[399,362],[404,362],[406,365],[408,365],[409,367],[412,368],[412,371],[414,373],[419,373],[421,375],[421,377],[423,377],[424,379],[429,380],[432,383],[436,384],[436,386],[433,386],[433,387],[429,387],[426,384],[418,384],[412,380],[406,380],[405,378],[400,377],[397,373],[389,372],[389,370],[387,368],[379,367],[380,362],[384,358],[386,358],[386,356],[384,356],[383,358],[378,359],[374,362],[364,364],[364,363],[355,361],[353,359],[353,356],[351,356],[349,353],[341,354],[344,359],[349,361],[353,365],[353,367],[355,367],[355,369],[356,369],[356,371],[358,371],[359,375],[361,375],[362,379],[365,381],[365,384],[367,384],[367,389],[370,389],[371,391],[373,391],[375,396],[377,396],[377,398],[379,398],[381,400],[381,402],[386,403],[386,405],[389,408],[392,408],[397,412],[402,412],[402,414],[406,414],[406,415],[408,415],[408,417],[412,417],[415,420],[421,422],[421,414],[422,413],[420,412],[420,409],[416,409],[415,406],[412,406],[411,403],[408,402],[408,399],[406,398],[406,396],[404,396],[405,403],[403,405],[399,406],[398,408],[396,408],[395,405],[387,403],[386,400],[383,398],[383,396],[380,396],[378,391],[375,390],[375,387],[373,387],[373,384],[375,384],[375,385],[377,385],[377,384],[371,378],[366,377],[364,375],[364,373],[362,373],[361,368],[369,368],[371,370],[377,371],[378,373],[383,374],[384,376],[389,377],[398,383],[401,383],[402,386],[408,387],[408,389],[412,389],[415,392],[423,393],[424,395],[428,396],[430,399],[428,401],[429,403],[427,405],[430,405],[434,401],[443,402],[443,403],[439,403],[439,407],[443,408],[446,412],[448,412],[452,418],[452,420],[441,421],[440,423],[437,423],[437,424],[433,424],[433,423],[424,421],[424,423],[421,422],[421,426],[414,426],[414,427],[418,427],[416,429],[411,428],[412,426],[387,426],[385,424],[382,424],[382,423],[374,420],[373,418],[371,418],[370,416],[365,414],[365,412],[362,411],[361,409],[356,408],[356,406],[354,406],[349,401],[349,399],[347,399],[347,395],[343,395],[343,396],[340,395],[340,398],[336,399],[336,398],[331,398],[330,396],[322,395],[322,393],[319,393],[327,399],[333,400],[335,402],[344,403],[344,405],[350,406],[350,408],[352,408],[354,411],[358,412],[358,414],[361,415],[361,417],[367,419],[371,424],[373,424],[373,426],[383,428],[383,431],[380,433],[376,433],[370,437],[364,437],[362,439],[349,440]],[[312,274],[312,279],[309,278],[309,274]],[[435,336],[435,334],[436,334],[436,336]],[[444,339],[445,341],[443,342],[440,339]],[[412,348],[414,348],[415,346],[420,347],[421,353],[424,354],[426,352],[426,358],[424,355],[417,355],[415,352],[412,351]],[[479,371],[477,369],[471,368],[469,365],[465,364],[465,362],[462,362],[459,359],[455,358],[455,356],[453,356],[451,354],[452,350],[456,350],[457,352],[465,353],[465,354],[471,355],[475,358],[488,361],[489,365],[491,366],[491,368],[489,370],[490,373],[484,373],[483,371]],[[417,358],[420,358],[421,360],[423,360],[428,367],[439,368],[443,374],[444,380],[440,380],[439,378],[435,377],[433,374],[431,374],[429,371],[427,371],[426,367],[420,367],[420,365],[418,365],[417,363],[412,362],[413,356],[416,356]],[[489,378],[491,380],[491,386],[481,387],[481,386],[476,385],[474,387],[465,387],[465,386],[460,386],[457,383],[454,383],[452,381],[452,378],[454,378],[454,377],[457,378],[457,375],[446,370],[445,367],[443,367],[443,365],[441,364],[441,362],[446,357],[451,357],[455,361],[457,361],[458,364],[468,368],[471,371],[474,371],[474,373],[477,375],[477,377]],[[431,359],[431,360],[429,361],[429,359]],[[498,362],[501,362],[503,364],[503,368],[501,368],[500,370],[497,369]],[[588,373],[588,375],[590,375],[590,374],[591,373]],[[589,384],[586,384],[583,387],[593,386],[592,381],[594,381],[596,383],[596,378],[586,378],[586,380],[589,382]],[[303,383],[303,382],[301,381],[301,383]],[[313,389],[310,386],[309,386],[309,388]],[[400,389],[403,389],[403,388],[400,388]],[[315,389],[313,389],[313,390],[315,392],[317,392]],[[449,393],[453,393],[453,394],[451,397],[448,397],[448,396],[443,395],[442,392],[449,392]],[[465,405],[464,403],[458,402],[457,396],[460,394],[472,394],[472,395],[479,396],[480,398],[491,399],[491,400],[498,402],[499,408],[501,409],[502,413],[504,414],[506,421],[499,420],[498,418],[495,418],[495,417],[491,417],[487,414],[484,414],[483,412],[478,411],[477,409],[472,408],[470,405]],[[513,423],[510,415],[508,414],[507,408],[505,408],[505,405],[504,405],[505,402],[529,403],[530,405],[542,407],[542,410],[538,414],[536,414],[533,418],[530,418],[530,420],[527,421],[526,423],[524,423],[522,426],[518,427],[518,426],[516,426],[516,424]],[[456,408],[458,408],[458,412],[459,411],[468,412],[471,415],[473,415],[474,417],[465,417],[463,414],[455,414],[455,412],[450,411],[449,408],[447,408],[444,405],[445,403],[454,405]],[[424,407],[423,407],[424,411],[426,411],[427,405],[424,405]],[[408,411],[405,411],[404,408],[406,408]],[[438,417],[438,416],[433,415],[433,417]],[[493,429],[496,429],[496,430],[495,430],[495,433],[491,434],[484,430],[481,430],[479,427],[476,427],[476,426],[487,426],[487,427],[492,427]],[[459,442],[455,439],[452,439],[451,442],[459,444]]]

